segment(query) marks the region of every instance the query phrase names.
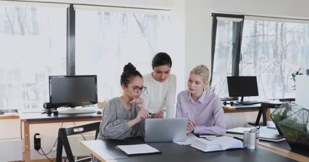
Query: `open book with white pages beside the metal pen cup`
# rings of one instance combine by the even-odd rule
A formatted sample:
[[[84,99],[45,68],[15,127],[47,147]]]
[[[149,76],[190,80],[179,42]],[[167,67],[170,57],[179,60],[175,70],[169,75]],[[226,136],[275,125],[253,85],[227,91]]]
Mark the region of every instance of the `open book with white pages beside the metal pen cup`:
[[[204,138],[197,138],[191,144],[191,147],[199,149],[203,152],[210,152],[210,151],[223,151],[227,149],[234,149],[234,148],[243,148],[242,142],[240,140],[222,136],[216,137],[213,140],[209,141]]]

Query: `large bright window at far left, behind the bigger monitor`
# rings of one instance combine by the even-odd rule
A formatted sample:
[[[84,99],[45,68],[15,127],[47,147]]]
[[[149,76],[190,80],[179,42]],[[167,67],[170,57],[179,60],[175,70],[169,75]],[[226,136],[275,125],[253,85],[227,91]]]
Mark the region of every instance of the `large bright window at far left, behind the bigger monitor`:
[[[0,109],[49,101],[48,75],[66,74],[66,12],[65,5],[0,3]]]

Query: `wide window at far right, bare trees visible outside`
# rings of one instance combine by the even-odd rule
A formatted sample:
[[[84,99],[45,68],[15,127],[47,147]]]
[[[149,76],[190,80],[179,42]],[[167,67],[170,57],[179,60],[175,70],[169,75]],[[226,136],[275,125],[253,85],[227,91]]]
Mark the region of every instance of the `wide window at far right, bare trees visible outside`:
[[[295,98],[292,73],[309,67],[309,21],[245,17],[240,75],[257,75],[260,97]]]

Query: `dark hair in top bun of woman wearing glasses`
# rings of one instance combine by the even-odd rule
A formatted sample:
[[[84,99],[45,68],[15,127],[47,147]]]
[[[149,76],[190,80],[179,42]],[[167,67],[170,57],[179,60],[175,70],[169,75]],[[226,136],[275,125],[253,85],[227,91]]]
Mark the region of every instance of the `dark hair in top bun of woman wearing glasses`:
[[[130,78],[132,76],[139,76],[143,78],[141,73],[136,70],[136,67],[133,64],[131,64],[131,62],[129,62],[127,65],[123,67],[123,72],[120,77],[120,85],[128,86],[130,83]]]

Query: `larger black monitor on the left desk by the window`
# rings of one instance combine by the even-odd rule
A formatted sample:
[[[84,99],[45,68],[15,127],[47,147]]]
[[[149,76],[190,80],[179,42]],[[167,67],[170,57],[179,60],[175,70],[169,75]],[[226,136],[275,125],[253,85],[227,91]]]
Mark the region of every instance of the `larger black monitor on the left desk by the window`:
[[[49,76],[49,102],[69,107],[97,104],[97,75]]]

